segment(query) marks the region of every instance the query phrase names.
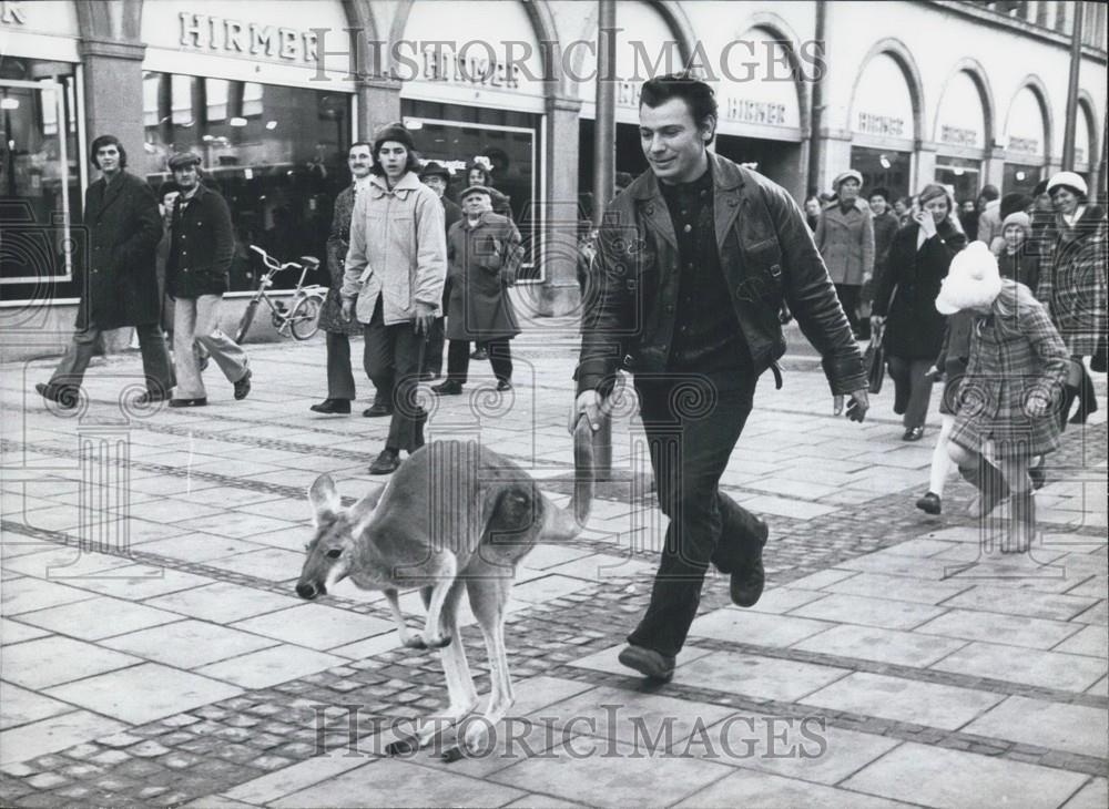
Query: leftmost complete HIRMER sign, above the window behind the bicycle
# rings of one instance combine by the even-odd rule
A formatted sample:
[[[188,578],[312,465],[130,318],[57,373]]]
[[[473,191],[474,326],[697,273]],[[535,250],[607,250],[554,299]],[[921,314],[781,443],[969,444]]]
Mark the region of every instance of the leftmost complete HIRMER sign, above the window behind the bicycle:
[[[316,34],[293,28],[243,22],[182,11],[181,45],[191,50],[222,51],[289,62],[316,61]]]

